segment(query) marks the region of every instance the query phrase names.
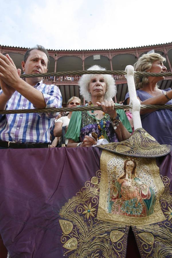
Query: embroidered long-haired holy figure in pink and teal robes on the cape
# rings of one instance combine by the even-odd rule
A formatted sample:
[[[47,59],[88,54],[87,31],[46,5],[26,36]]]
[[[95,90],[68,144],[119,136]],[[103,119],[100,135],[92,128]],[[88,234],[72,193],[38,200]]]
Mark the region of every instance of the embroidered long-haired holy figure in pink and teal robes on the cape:
[[[136,167],[136,161],[124,161],[124,173],[110,185],[108,212],[134,217],[153,212],[155,193],[136,177]]]

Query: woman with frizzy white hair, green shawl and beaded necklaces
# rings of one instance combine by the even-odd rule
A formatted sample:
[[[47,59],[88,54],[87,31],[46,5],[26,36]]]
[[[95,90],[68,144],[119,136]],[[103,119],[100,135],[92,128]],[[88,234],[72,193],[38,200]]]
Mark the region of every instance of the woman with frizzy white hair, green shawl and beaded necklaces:
[[[105,70],[94,65],[88,70]],[[130,137],[132,128],[124,110],[115,110],[112,97],[116,94],[115,81],[111,75],[83,75],[79,80],[80,93],[91,106],[101,106],[103,111],[73,112],[65,137],[67,147],[89,147],[96,140],[89,136],[95,132],[99,139],[118,142]]]

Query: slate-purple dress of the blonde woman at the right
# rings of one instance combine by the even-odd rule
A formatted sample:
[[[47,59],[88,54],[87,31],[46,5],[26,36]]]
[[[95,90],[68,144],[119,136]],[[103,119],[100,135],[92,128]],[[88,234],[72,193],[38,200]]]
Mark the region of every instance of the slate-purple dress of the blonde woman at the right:
[[[170,90],[171,88],[163,89],[162,91]],[[141,89],[137,90],[136,94],[141,101],[153,97]],[[129,98],[129,93],[126,94],[125,100],[127,98]],[[166,104],[172,105],[172,100]],[[172,110],[157,110],[152,113],[140,115],[140,117],[144,130],[152,135],[160,144],[172,144]]]

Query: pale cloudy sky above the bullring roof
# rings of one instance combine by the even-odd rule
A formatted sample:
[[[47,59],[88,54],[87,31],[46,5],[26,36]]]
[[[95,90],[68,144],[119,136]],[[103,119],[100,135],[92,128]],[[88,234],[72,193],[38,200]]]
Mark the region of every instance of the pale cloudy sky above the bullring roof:
[[[0,0],[0,45],[111,49],[172,41],[172,1]]]

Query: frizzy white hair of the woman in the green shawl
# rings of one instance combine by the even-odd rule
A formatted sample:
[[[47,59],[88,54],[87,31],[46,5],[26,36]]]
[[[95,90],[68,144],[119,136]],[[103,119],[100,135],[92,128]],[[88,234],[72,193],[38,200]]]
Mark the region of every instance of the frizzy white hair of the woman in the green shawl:
[[[100,67],[99,65],[93,65],[87,70],[100,70],[100,71],[105,71],[106,69],[103,67]],[[90,101],[91,99],[89,98],[89,82],[91,81],[91,78],[93,78],[95,74],[84,74],[78,84],[80,88],[80,94],[85,98],[85,100]],[[111,100],[116,94],[116,85],[115,85],[115,80],[110,74],[103,74],[103,78],[105,79],[106,83],[106,95],[107,99],[106,100]]]

